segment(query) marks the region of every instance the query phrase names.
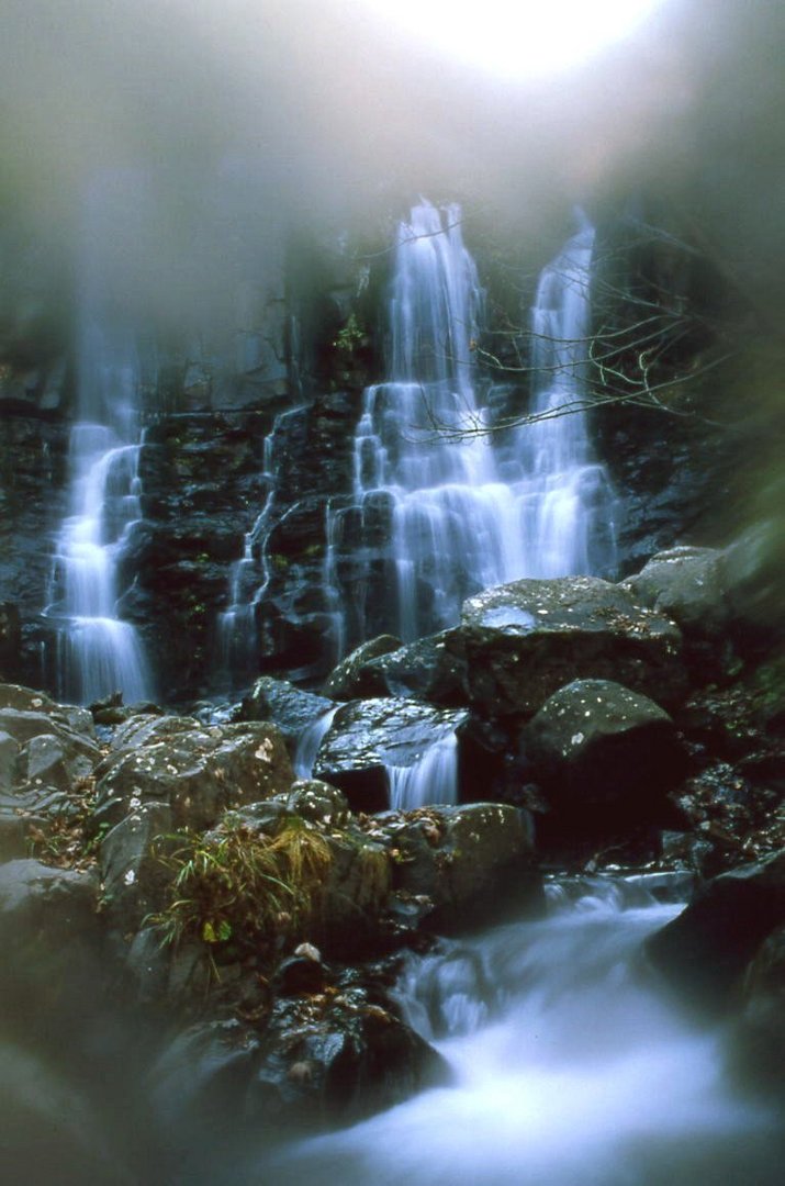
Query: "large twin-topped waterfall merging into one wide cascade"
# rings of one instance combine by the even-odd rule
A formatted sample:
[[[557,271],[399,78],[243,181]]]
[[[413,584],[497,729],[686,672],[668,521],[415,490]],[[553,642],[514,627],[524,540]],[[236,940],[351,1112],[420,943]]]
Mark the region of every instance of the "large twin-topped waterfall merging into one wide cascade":
[[[591,332],[593,230],[543,272],[534,310],[534,412],[570,414],[486,433],[473,344],[483,291],[458,206],[421,203],[398,228],[389,296],[388,378],[368,388],[355,434],[355,508],[328,524],[331,548],[357,518],[365,573],[343,591],[340,638],[368,637],[363,601],[387,589],[385,629],[411,640],[453,625],[466,597],[522,576],[608,572],[607,477],[591,455],[582,412]],[[504,478],[502,478],[502,473]],[[369,527],[389,516],[382,553]],[[346,541],[344,541],[346,542]],[[379,572],[381,567],[381,572]],[[327,574],[336,582],[334,573]]]

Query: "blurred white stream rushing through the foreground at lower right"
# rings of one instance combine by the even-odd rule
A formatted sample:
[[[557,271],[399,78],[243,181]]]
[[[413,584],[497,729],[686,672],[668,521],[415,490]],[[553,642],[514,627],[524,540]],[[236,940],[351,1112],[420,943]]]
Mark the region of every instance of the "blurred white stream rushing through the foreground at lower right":
[[[674,1012],[640,945],[679,911],[645,880],[554,887],[543,922],[409,956],[407,1020],[452,1083],[307,1140],[270,1169],[342,1186],[774,1186],[777,1129]],[[251,1180],[250,1178],[248,1180]]]

